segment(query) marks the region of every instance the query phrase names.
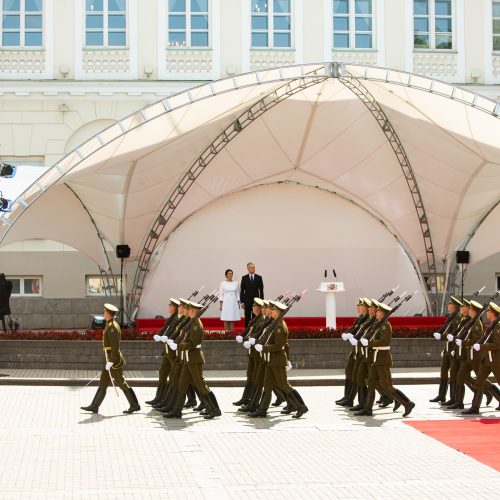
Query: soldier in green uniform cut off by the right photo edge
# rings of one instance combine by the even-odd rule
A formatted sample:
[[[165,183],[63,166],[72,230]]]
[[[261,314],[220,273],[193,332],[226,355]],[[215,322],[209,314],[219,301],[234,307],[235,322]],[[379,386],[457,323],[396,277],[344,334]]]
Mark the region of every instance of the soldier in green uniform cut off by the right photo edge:
[[[490,302],[488,311],[486,312],[489,321],[498,321],[500,316],[500,306],[494,302]],[[491,372],[495,375],[497,383],[500,383],[500,322],[497,322],[491,331],[488,331],[483,338],[472,345],[476,353],[482,355],[481,365],[477,372],[476,378],[476,392],[472,401],[472,406],[468,410],[464,410],[464,415],[477,415],[481,407],[481,400],[483,393],[489,389],[495,394],[497,400],[500,399],[500,389],[494,385],[489,384],[488,377]],[[497,410],[500,410],[500,405]]]

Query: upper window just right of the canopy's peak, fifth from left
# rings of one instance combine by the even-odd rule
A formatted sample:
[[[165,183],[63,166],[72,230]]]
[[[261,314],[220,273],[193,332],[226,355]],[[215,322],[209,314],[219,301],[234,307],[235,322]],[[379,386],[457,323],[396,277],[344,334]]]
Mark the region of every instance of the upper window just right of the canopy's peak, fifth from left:
[[[333,48],[373,48],[372,0],[333,0]]]

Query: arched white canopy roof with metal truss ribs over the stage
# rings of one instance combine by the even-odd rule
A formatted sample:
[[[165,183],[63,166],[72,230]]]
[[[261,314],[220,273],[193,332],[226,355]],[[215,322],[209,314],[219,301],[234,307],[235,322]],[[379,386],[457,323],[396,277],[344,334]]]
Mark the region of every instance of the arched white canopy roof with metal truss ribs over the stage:
[[[226,78],[82,144],[0,218],[0,241],[40,237],[41,220],[52,232],[72,224],[78,230],[50,237],[104,268],[100,238],[126,243],[139,263],[138,307],[158,246],[176,227],[229,194],[288,181],[334,192],[381,221],[421,282],[422,263],[449,259],[500,198],[498,113],[494,101],[383,68],[309,64]],[[500,250],[489,231],[475,233],[475,247],[482,238]]]

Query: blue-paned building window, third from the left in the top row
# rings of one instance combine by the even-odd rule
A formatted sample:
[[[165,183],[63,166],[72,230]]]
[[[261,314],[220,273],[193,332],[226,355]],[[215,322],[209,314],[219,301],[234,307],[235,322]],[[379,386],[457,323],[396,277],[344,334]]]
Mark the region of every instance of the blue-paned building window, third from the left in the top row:
[[[168,0],[168,46],[209,46],[208,0]]]

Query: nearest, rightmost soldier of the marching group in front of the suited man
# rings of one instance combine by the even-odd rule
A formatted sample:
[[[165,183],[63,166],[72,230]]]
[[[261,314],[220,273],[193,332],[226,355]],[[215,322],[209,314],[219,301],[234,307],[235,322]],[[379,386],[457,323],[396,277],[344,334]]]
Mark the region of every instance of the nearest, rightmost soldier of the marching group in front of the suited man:
[[[270,301],[272,306],[271,316],[273,320],[278,322],[273,325],[273,330],[269,332],[267,339],[259,339],[255,343],[255,349],[262,353],[267,361],[267,366],[264,373],[264,391],[259,403],[259,407],[252,413],[250,417],[266,417],[267,410],[271,404],[272,391],[277,387],[285,396],[285,399],[290,407],[297,408],[293,418],[299,418],[308,411],[304,400],[287,380],[286,367],[288,359],[285,352],[285,346],[288,341],[288,328],[283,319],[279,319],[282,311],[285,311],[287,306],[281,302]]]

